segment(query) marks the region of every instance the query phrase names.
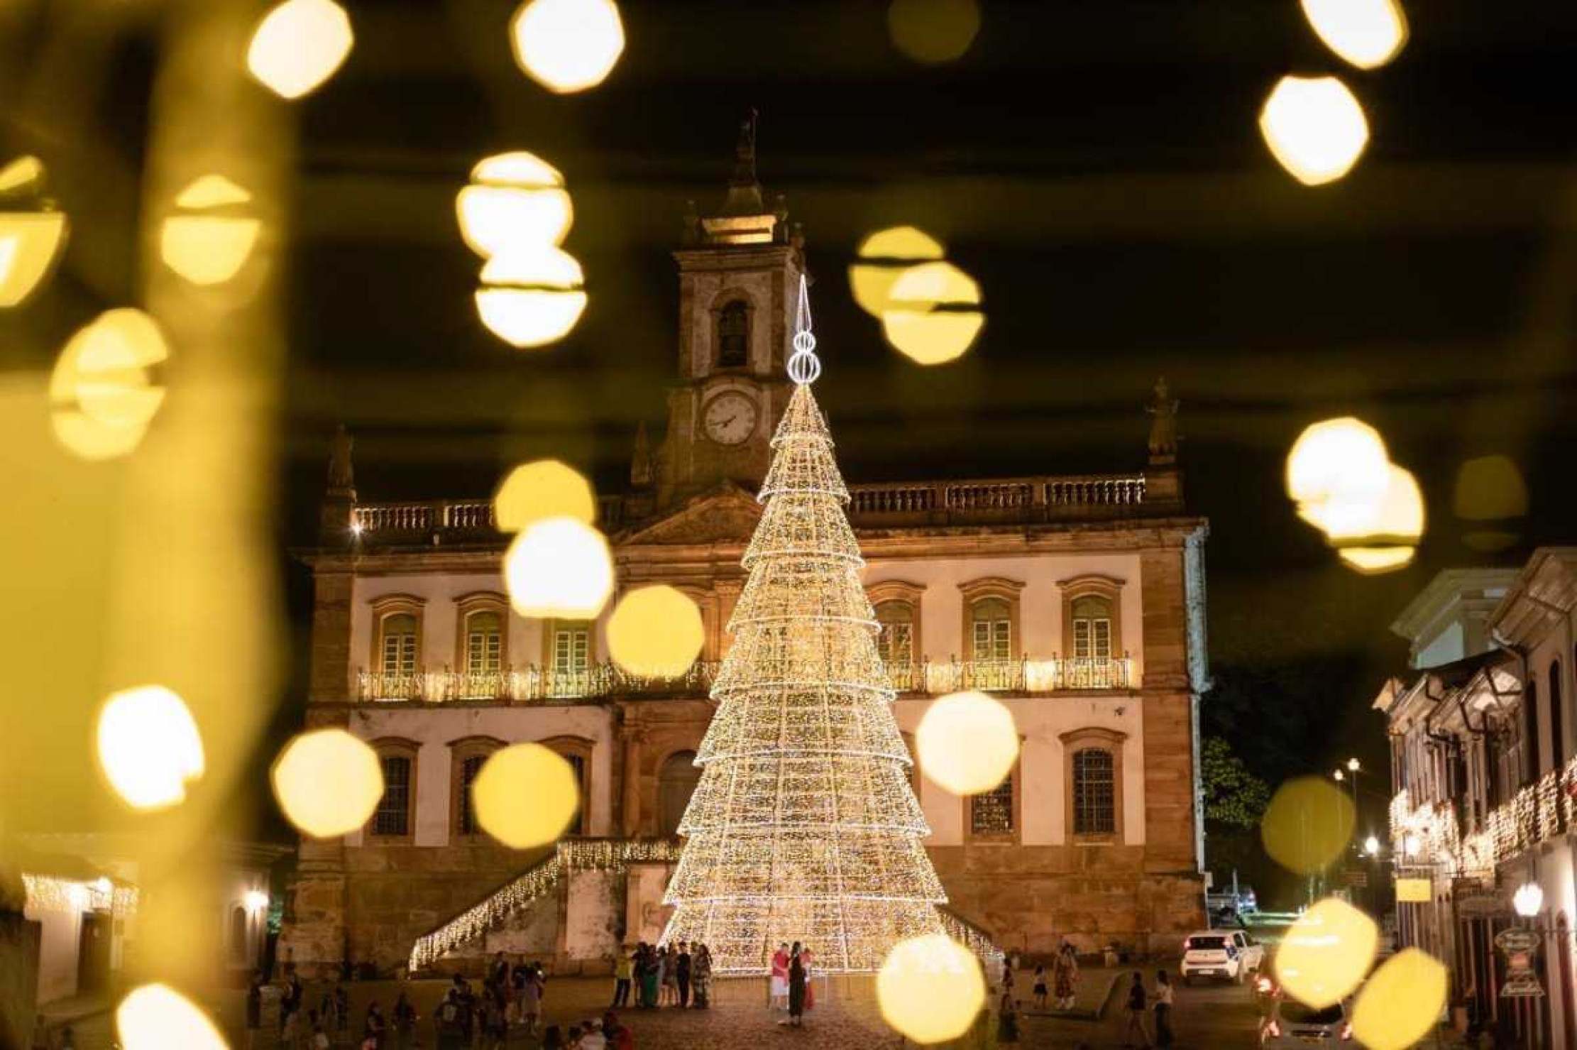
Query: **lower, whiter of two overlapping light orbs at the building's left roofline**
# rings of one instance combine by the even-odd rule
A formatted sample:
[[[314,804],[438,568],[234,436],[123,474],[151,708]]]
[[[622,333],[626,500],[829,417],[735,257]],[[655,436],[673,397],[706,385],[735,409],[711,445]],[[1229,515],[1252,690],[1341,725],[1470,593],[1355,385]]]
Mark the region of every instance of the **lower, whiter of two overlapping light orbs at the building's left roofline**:
[[[595,620],[613,593],[607,539],[572,517],[531,522],[509,544],[503,575],[522,616]]]

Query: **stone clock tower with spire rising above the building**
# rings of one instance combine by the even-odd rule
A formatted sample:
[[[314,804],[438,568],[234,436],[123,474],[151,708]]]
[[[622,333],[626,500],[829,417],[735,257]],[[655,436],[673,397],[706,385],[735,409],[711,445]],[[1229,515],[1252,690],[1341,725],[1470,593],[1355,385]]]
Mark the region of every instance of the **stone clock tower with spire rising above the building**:
[[[659,454],[658,506],[733,481],[755,492],[768,441],[788,404],[784,361],[793,336],[803,240],[779,195],[771,210],[755,178],[755,114],[740,128],[729,194],[716,214],[684,216],[680,268],[678,383]]]

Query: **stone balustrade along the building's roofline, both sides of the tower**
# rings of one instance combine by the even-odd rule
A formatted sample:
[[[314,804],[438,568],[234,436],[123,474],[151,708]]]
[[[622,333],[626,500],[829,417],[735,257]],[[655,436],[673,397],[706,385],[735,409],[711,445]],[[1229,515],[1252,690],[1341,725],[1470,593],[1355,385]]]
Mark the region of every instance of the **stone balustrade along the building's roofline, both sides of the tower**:
[[[1143,475],[1060,475],[978,481],[913,481],[848,486],[848,519],[856,527],[921,523],[1036,522],[1128,517],[1167,511],[1146,495]],[[598,525],[624,523],[618,495],[598,498]],[[363,544],[501,542],[489,500],[358,503],[350,530]]]

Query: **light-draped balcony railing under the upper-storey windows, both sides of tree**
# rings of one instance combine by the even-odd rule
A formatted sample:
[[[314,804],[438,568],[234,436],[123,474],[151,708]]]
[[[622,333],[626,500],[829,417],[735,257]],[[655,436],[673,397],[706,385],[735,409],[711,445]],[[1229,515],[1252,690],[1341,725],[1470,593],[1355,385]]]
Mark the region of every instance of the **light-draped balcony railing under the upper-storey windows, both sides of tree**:
[[[624,695],[703,695],[711,691],[718,662],[695,662],[678,678],[643,678],[615,664],[583,670],[519,667],[486,675],[440,670],[419,675],[360,672],[356,697],[364,702],[495,702],[533,703]],[[1022,661],[923,661],[888,668],[893,687],[908,695],[940,695],[962,689],[982,692],[1047,694],[1076,689],[1129,689],[1132,661],[1052,657]]]

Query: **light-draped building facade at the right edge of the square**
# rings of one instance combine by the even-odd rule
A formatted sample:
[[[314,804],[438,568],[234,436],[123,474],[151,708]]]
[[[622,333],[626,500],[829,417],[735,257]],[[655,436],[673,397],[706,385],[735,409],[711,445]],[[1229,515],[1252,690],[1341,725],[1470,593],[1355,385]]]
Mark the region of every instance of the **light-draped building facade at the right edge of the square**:
[[[1574,610],[1577,549],[1536,550],[1520,572],[1441,572],[1392,627],[1416,673],[1375,700],[1396,872],[1427,888],[1397,903],[1399,938],[1451,963],[1454,1001],[1497,1045],[1577,1048]],[[1520,916],[1530,884],[1534,914]],[[1506,992],[1497,936],[1512,929],[1538,935],[1542,995]]]

